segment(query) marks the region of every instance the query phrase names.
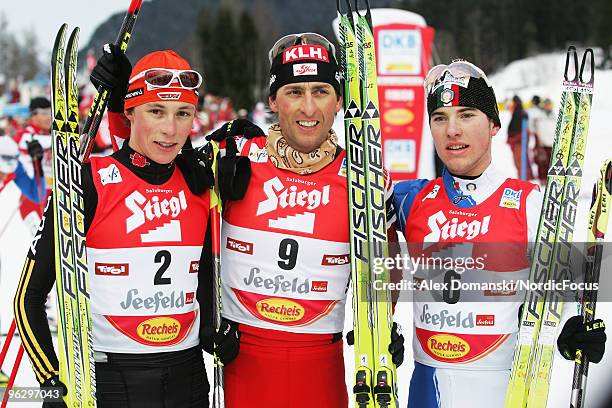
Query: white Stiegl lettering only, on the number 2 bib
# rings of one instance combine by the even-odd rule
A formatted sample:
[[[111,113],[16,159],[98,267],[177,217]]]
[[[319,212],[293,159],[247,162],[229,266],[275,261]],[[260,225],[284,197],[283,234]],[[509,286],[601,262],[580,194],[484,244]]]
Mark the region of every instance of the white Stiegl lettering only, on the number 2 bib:
[[[162,217],[176,218],[181,211],[187,209],[185,192],[181,190],[178,196],[160,200],[154,195],[149,200],[136,190],[126,197],[125,206],[132,211],[126,220],[127,233],[134,231],[146,221],[153,221]]]

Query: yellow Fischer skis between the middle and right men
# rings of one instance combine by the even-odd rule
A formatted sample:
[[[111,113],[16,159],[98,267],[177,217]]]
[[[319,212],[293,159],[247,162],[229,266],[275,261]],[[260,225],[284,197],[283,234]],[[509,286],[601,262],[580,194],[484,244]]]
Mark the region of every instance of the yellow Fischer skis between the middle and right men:
[[[353,282],[355,384],[358,408],[397,407],[395,365],[389,353],[393,325],[389,290],[375,290],[374,280],[390,281],[384,270],[374,274],[376,259],[388,256],[385,176],[378,105],[376,51],[370,5],[359,12],[350,0],[346,12],[336,0],[340,22],[340,67],[345,90],[344,128]],[[379,264],[380,265],[380,264]]]

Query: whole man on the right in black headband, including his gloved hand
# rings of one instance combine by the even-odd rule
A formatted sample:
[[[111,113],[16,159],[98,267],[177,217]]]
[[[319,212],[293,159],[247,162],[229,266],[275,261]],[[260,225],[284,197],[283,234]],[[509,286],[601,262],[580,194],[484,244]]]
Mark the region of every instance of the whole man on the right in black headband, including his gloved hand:
[[[535,240],[542,193],[492,165],[491,142],[501,123],[495,93],[480,68],[463,60],[435,66],[425,88],[434,145],[446,168],[435,180],[395,186],[399,229],[417,256],[471,257],[478,266],[415,271],[415,283],[440,281],[450,289],[414,291],[408,406],[501,408],[524,291],[462,291],[452,284],[528,277],[528,243]],[[567,359],[580,348],[598,362],[604,342],[603,328],[590,330],[572,318],[558,345]]]

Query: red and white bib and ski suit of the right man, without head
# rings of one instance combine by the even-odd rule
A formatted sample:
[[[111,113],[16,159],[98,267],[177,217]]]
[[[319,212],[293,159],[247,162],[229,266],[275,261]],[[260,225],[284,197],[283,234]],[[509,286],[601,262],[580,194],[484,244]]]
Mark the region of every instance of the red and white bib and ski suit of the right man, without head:
[[[462,274],[443,271],[438,280],[482,283],[528,277],[528,243],[535,239],[542,200],[534,184],[506,178],[489,166],[476,178],[446,171],[432,181],[400,182],[394,192],[399,229],[412,255],[479,262]],[[458,205],[467,198],[473,205]],[[413,279],[422,284],[435,276],[421,268]],[[417,368],[410,407],[503,406],[524,292],[474,293],[415,290]],[[424,385],[428,381],[423,377],[434,377],[436,389]],[[483,384],[478,392],[470,386],[474,381]]]

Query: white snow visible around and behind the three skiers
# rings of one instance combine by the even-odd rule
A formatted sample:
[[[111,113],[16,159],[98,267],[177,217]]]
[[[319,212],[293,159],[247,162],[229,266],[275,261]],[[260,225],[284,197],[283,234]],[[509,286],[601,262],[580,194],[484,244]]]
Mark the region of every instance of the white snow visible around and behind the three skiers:
[[[532,57],[516,61],[505,69],[491,76],[498,99],[511,98],[518,94],[524,101],[531,99],[534,94],[542,98],[549,97],[555,104],[560,97],[560,81],[565,64],[565,54],[554,53]],[[587,211],[590,202],[590,192],[598,175],[599,168],[604,159],[612,157],[612,135],[607,120],[608,114],[612,112],[612,99],[609,92],[612,91],[612,71],[597,71],[595,83],[595,95],[593,98],[593,110],[591,114],[589,140],[586,153],[586,165],[582,182],[581,201],[575,227],[575,241],[584,241],[586,237]],[[506,127],[509,122],[508,112],[501,113],[502,130],[494,138],[493,157],[495,166],[507,173],[510,177],[516,177],[516,170],[512,162],[512,156],[506,145]],[[341,129],[341,125],[340,125]],[[14,186],[9,186],[0,195],[0,231],[7,219],[13,214],[18,200],[18,192]],[[23,261],[30,243],[30,236],[22,225],[19,214],[8,220],[8,228],[0,236],[0,259],[2,261],[2,273],[0,276],[0,333],[6,333],[12,319],[12,298],[15,293],[17,282],[21,274]],[[612,227],[608,234],[611,241]],[[608,248],[609,249],[609,248]],[[602,263],[601,283],[604,288],[612,287],[612,258],[610,251],[604,254]],[[406,336],[405,362],[398,369],[398,384],[400,407],[405,407],[408,398],[408,384],[413,369],[412,353],[410,344],[412,341],[412,305],[400,303],[396,309],[396,321],[404,326]],[[348,309],[347,309],[348,310]],[[597,315],[604,318],[608,323],[612,321],[612,304],[600,302],[597,306]],[[347,319],[346,330],[350,330],[350,317]],[[3,341],[0,338],[0,342]],[[18,340],[17,338],[15,340]],[[18,341],[13,341],[4,370],[12,366],[17,352]],[[610,349],[611,347],[608,347]],[[354,367],[353,351],[345,347],[346,381],[351,384]],[[210,361],[208,361],[210,363]],[[211,367],[208,365],[207,367]],[[212,373],[212,369],[209,370]],[[563,360],[559,354],[556,355],[554,365],[553,383],[550,390],[549,407],[568,407],[571,390],[571,377],[573,363]],[[589,371],[589,384],[587,390],[586,406],[591,408],[603,407],[603,399],[610,391],[609,376],[612,374],[612,353],[604,356],[603,361],[597,365],[591,365]],[[35,385],[34,375],[30,369],[29,362],[24,360],[19,370],[17,384],[21,386]],[[474,392],[478,392],[475,385]],[[349,388],[350,389],[350,388]],[[37,404],[14,404],[15,406],[38,406]]]

